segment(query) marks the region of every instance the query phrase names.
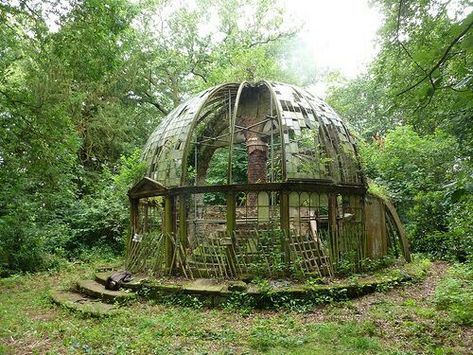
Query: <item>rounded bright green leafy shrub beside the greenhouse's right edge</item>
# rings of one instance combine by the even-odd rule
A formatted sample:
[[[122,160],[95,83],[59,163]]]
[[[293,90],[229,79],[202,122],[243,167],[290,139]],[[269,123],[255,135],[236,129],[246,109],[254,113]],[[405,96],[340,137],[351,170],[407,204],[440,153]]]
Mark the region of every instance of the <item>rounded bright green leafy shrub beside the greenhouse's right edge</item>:
[[[397,127],[381,143],[361,144],[370,191],[396,203],[414,252],[466,261],[473,255],[473,197],[469,162],[442,131],[419,135]]]

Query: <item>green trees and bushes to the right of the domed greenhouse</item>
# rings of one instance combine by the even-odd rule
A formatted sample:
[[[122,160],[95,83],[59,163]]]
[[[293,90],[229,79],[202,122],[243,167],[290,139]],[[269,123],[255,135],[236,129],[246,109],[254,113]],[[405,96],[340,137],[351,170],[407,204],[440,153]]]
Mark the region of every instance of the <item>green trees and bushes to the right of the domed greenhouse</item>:
[[[413,250],[471,260],[471,3],[374,5],[386,17],[379,53],[354,80],[333,74],[328,101],[361,134],[366,172],[396,202]]]

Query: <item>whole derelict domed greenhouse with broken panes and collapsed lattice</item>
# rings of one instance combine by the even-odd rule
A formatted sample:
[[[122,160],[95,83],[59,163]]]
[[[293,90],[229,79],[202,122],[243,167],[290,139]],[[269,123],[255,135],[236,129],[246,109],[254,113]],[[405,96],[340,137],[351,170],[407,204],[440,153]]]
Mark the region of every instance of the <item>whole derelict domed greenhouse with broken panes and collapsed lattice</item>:
[[[129,191],[132,272],[330,277],[342,262],[409,260],[393,206],[367,191],[353,135],[304,89],[207,89],[164,118],[143,159]]]

